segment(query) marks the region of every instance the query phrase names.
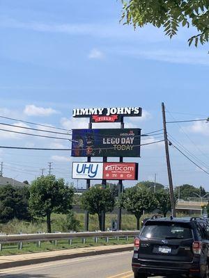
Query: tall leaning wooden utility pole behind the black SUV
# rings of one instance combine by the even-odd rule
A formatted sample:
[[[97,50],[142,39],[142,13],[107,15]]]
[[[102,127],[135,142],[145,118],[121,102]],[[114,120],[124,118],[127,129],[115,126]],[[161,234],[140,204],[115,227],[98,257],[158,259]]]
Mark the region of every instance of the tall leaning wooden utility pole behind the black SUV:
[[[164,102],[162,102],[162,120],[163,120],[163,130],[164,130],[164,145],[166,151],[166,158],[167,158],[167,171],[169,177],[169,188],[170,188],[170,198],[171,198],[171,213],[173,217],[176,217],[176,208],[174,202],[174,194],[173,194],[173,180],[171,174],[171,163],[170,163],[170,156],[169,156],[169,141],[167,136],[167,122],[166,122],[166,115],[164,109]]]

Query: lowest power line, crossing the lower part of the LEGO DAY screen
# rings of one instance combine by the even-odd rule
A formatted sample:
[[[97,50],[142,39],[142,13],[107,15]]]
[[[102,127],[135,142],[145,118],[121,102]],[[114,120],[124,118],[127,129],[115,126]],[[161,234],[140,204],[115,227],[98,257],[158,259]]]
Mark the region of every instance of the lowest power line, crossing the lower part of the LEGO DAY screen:
[[[157,144],[160,142],[164,142],[164,140],[158,140],[155,142],[149,142],[149,143],[144,143],[140,145],[132,145],[132,147],[141,147],[141,146],[146,146],[146,145],[153,145]],[[36,147],[12,147],[12,146],[0,146],[0,149],[31,149],[31,150],[38,150],[38,151],[72,151],[72,149],[54,149],[54,148],[36,148]],[[114,149],[114,147],[109,147],[109,148],[94,148],[93,150],[99,150],[99,149]],[[81,149],[84,150],[84,149]]]

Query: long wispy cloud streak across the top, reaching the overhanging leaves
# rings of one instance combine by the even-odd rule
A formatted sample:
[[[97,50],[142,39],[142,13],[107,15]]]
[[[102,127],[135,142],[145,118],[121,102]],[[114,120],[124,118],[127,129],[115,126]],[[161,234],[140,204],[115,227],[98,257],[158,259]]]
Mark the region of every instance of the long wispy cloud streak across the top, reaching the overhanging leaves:
[[[141,28],[140,32],[135,32],[131,26],[123,26],[118,21],[105,24],[70,24],[52,22],[20,22],[9,17],[0,17],[0,26],[4,28],[22,28],[37,32],[65,33],[68,35],[90,35],[97,38],[130,38],[131,40],[146,40],[148,42],[159,42],[167,40],[160,29],[147,26]]]

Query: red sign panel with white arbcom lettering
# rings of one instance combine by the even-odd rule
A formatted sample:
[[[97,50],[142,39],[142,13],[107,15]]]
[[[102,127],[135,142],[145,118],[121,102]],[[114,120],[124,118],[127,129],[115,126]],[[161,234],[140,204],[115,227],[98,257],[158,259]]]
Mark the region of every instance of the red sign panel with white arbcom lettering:
[[[103,179],[124,179],[127,181],[137,180],[138,163],[104,163]]]

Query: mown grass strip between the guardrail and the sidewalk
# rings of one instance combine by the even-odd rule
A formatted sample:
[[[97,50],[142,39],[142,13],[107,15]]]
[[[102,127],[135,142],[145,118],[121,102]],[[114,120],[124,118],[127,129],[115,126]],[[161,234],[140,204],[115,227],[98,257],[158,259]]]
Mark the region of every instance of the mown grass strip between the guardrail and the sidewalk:
[[[38,247],[37,243],[23,243],[22,250],[18,249],[19,245],[13,243],[11,245],[2,245],[0,256],[127,243],[133,243],[133,237],[129,237],[127,240],[126,238],[119,238],[119,240],[117,238],[109,238],[109,243],[104,238],[99,238],[98,243],[95,243],[93,238],[86,238],[86,243],[82,243],[82,238],[75,238],[72,240],[72,245],[68,243],[68,240],[57,240],[57,245],[55,245],[55,242],[45,241],[41,243],[40,247]]]

